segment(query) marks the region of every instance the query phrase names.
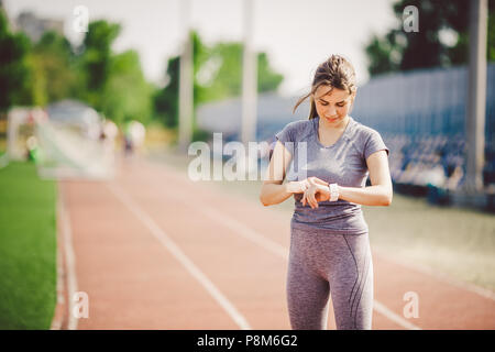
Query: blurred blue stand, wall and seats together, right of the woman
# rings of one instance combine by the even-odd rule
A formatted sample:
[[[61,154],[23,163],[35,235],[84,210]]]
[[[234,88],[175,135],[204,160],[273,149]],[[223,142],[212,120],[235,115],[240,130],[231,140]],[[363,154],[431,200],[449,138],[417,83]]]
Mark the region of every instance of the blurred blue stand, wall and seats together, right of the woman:
[[[455,172],[459,179],[451,179],[449,186],[444,186],[443,182],[438,184],[450,189],[462,185],[466,147],[466,67],[384,75],[360,87],[358,95],[352,116],[384,136],[392,151],[391,172],[394,182],[431,185],[431,170],[441,165],[446,178],[451,178]],[[495,184],[493,64],[487,69],[484,184]]]

